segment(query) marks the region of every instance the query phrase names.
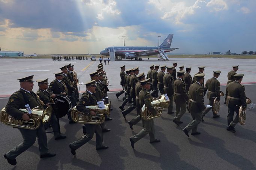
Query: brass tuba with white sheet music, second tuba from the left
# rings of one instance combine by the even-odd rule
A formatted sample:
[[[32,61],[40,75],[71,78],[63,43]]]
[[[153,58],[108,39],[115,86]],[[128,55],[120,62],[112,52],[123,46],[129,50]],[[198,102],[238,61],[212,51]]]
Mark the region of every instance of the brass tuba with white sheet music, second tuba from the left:
[[[71,118],[76,123],[83,124],[101,124],[105,121],[105,115],[110,115],[110,105],[111,103],[105,105],[105,109],[99,109],[98,105],[85,106],[87,109],[95,111],[96,115],[91,116],[84,114],[84,112],[80,112],[77,110],[76,106],[71,110]]]

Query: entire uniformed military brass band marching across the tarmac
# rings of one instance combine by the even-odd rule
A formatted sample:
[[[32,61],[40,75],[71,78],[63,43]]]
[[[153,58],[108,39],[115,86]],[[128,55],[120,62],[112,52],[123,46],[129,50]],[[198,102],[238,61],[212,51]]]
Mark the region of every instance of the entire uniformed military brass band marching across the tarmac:
[[[71,59],[65,58],[65,60]],[[56,61],[56,58],[53,58],[53,61]],[[45,130],[49,127],[53,129],[55,140],[66,140],[72,155],[89,142],[94,133],[96,150],[108,149],[104,144],[102,133],[110,132],[105,121],[112,120],[111,101],[107,94],[109,81],[103,64],[97,66],[98,68],[89,74],[91,80],[85,83],[86,91],[80,99],[78,77],[74,65],[71,64],[55,72],[55,79],[49,86],[48,79],[51,77],[36,80],[39,86],[36,93],[32,91],[33,75],[18,79],[20,89],[10,96],[6,107],[1,111],[1,122],[17,128],[23,137],[22,143],[4,154],[9,164],[16,165],[16,157],[29,149],[35,143],[36,137],[41,158],[56,156],[55,153],[50,152],[47,145]],[[192,117],[191,122],[182,131],[188,137],[190,130],[191,135],[199,135],[197,126],[204,121],[203,117],[210,110],[213,118],[219,117],[220,96],[225,94],[225,103],[228,107],[226,130],[235,133],[236,124],[245,124],[245,110],[251,100],[245,96],[245,87],[241,84],[244,74],[236,74],[238,66],[233,66],[232,71],[227,75],[225,94],[220,91],[220,82],[217,80],[221,71],[214,70],[213,77],[204,83],[205,66],[199,66],[199,72],[193,78],[190,75],[191,67],[185,67],[184,70],[184,65],[181,65],[179,71],[176,71],[176,67],[177,62],[173,63],[173,66],[151,65],[146,75],[146,70],[142,72],[139,67],[128,69],[125,65],[120,67],[122,90],[116,93],[117,99],[124,94],[122,105],[119,106],[120,114],[126,120],[126,115],[136,108],[137,116],[128,121],[128,126],[133,130],[133,126],[140,120],[143,126],[139,133],[129,139],[127,137],[132,148],[147,134],[150,143],[160,142],[155,136],[154,118],[160,117],[164,108],[167,108],[167,114],[175,114],[172,121],[177,126],[183,123],[182,116],[185,112],[189,112]],[[203,100],[206,92],[208,105],[205,105]],[[176,110],[173,109],[173,102]],[[129,103],[130,106],[125,108]],[[84,124],[82,127],[84,135],[73,142],[68,141],[68,138],[60,132],[59,118],[66,115],[69,124],[74,124],[72,126],[76,126],[77,123]]]

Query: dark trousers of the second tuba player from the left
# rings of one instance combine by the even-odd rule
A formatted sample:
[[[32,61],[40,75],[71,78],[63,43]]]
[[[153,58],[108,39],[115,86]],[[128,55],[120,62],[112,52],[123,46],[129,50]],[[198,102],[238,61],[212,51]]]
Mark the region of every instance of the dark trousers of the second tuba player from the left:
[[[85,143],[89,142],[94,133],[96,134],[96,148],[99,148],[102,146],[103,142],[103,135],[102,135],[102,129],[101,126],[98,124],[84,124],[86,127],[86,135],[82,136],[77,141],[71,143],[71,147],[73,149],[78,149],[81,146],[83,146]]]

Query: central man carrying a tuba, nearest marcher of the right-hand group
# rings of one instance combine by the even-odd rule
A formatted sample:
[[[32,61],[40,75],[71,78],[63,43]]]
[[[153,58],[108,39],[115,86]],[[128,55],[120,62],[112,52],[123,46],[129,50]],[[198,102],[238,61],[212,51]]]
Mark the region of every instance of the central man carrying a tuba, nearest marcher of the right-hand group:
[[[148,111],[151,112],[152,115],[157,114],[157,110],[152,106],[151,102],[153,101],[152,96],[149,93],[149,89],[151,86],[150,78],[146,80],[140,81],[142,85],[142,90],[139,93],[139,102],[140,107],[145,104]],[[131,147],[134,148],[134,143],[142,139],[142,137],[146,136],[149,133],[149,143],[155,143],[160,142],[159,139],[155,139],[155,125],[154,125],[154,119],[145,121],[145,128],[142,129],[137,135],[130,137]]]

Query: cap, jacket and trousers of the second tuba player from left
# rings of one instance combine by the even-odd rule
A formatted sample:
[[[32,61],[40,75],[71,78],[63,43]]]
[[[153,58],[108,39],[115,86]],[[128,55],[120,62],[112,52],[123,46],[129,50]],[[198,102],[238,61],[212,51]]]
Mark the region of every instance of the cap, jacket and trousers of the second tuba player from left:
[[[89,85],[95,85],[92,84],[95,81],[90,81]],[[84,114],[90,115],[90,109],[87,109],[85,106],[90,106],[90,105],[97,105],[97,99],[95,96],[89,92],[88,90],[83,93],[80,101],[78,102],[76,108],[78,111],[83,112]],[[98,124],[84,124],[86,127],[86,135],[82,136],[80,139],[78,139],[75,142],[72,142],[69,144],[69,147],[72,149],[78,149],[81,146],[83,146],[85,143],[89,142],[89,140],[92,139],[94,133],[96,134],[96,149],[101,148],[102,142],[103,142],[103,135],[102,135],[102,129],[101,126]]]

